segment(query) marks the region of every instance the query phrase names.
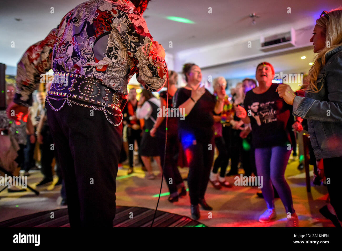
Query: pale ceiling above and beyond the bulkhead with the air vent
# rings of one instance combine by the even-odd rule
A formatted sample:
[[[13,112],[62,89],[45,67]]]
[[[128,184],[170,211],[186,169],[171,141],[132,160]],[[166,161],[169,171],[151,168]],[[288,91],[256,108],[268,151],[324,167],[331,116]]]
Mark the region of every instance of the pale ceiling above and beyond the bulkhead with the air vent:
[[[0,0],[0,62],[16,66],[28,46],[43,39],[68,11],[81,2],[83,0]],[[189,48],[245,37],[304,18],[312,18],[314,24],[321,11],[330,11],[340,4],[340,0],[152,0],[144,17],[154,39],[168,53],[175,54]],[[287,13],[288,7],[291,14]],[[54,13],[51,13],[51,8],[54,8]],[[208,13],[209,8],[212,13]],[[260,16],[256,19],[256,25],[251,24],[248,16],[252,12]],[[167,16],[188,18],[195,23],[178,23],[166,19]],[[16,21],[15,18],[22,20]],[[15,42],[14,48],[11,47],[12,41]],[[168,46],[170,41],[172,48]],[[286,62],[289,67],[297,65],[292,57],[279,57],[274,58],[276,64]],[[299,68],[307,66],[307,62],[299,62]],[[237,63],[232,72],[236,67],[245,65],[246,62]],[[215,70],[220,74],[220,67]]]

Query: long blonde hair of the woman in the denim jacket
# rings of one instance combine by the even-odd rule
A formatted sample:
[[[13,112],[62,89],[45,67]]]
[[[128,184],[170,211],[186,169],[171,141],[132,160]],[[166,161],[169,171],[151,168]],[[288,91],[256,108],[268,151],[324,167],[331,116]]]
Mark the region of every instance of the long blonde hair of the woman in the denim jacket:
[[[307,89],[314,93],[319,92],[323,88],[322,85],[318,89],[316,81],[320,70],[326,64],[325,55],[342,45],[342,9],[336,9],[328,12],[327,15],[318,18],[316,20],[316,24],[323,27],[323,30],[326,34],[325,44],[327,46],[329,42],[330,47],[325,47],[323,50],[318,52],[314,59],[314,64],[309,70],[308,76],[310,79],[310,84],[308,85]]]

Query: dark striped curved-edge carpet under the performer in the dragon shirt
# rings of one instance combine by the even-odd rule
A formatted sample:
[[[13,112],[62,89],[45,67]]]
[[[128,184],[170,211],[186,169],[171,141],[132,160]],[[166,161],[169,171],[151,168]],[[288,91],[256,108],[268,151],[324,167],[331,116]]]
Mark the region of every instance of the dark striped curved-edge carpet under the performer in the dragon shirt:
[[[54,218],[51,219],[53,212]],[[114,227],[150,227],[155,210],[142,207],[116,207]],[[130,215],[133,215],[133,218]],[[0,222],[0,227],[70,227],[67,209],[33,213]],[[157,211],[153,227],[206,227],[186,216]]]

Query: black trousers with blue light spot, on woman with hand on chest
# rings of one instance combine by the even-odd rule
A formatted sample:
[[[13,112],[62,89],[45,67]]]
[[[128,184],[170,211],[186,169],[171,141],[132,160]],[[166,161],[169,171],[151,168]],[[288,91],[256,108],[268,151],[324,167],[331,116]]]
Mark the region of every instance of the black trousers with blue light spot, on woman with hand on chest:
[[[214,158],[214,139],[209,142],[196,141],[194,144],[189,142],[185,135],[184,138],[181,136],[181,142],[189,165],[187,182],[190,203],[197,205],[199,199],[204,198],[207,190]]]

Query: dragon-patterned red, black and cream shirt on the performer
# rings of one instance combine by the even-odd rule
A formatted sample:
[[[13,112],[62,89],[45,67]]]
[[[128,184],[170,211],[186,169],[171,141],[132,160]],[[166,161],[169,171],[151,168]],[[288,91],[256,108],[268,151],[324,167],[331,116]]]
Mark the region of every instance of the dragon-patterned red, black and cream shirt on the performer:
[[[126,86],[134,73],[154,92],[167,78],[145,19],[129,0],[91,0],[67,13],[19,61],[14,102],[31,106],[40,75],[50,69],[101,80],[121,95],[128,94]]]

